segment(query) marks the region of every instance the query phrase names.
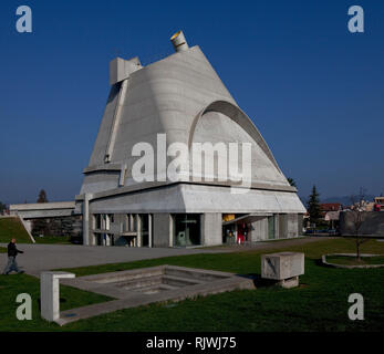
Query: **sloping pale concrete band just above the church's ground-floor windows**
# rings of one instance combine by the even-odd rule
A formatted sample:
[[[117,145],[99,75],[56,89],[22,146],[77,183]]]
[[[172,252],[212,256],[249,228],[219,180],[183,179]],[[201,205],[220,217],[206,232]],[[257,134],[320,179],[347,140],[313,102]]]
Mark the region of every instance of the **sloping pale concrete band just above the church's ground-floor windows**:
[[[233,194],[229,187],[174,184],[145,190],[123,189],[90,201],[92,214],[118,212],[302,212],[295,192],[250,189]]]

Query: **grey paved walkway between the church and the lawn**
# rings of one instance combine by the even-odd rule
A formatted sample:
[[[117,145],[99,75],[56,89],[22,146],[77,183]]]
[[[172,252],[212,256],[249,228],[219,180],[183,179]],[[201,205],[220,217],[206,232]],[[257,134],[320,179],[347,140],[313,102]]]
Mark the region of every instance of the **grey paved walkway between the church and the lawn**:
[[[0,243],[7,247],[6,243]],[[127,248],[127,247],[92,247],[76,244],[27,244],[19,243],[18,249],[24,251],[18,256],[18,264],[27,273],[38,275],[41,271],[97,266],[106,263],[132,262],[143,259],[196,253],[222,253],[215,249],[176,249],[176,248]],[[228,251],[228,250],[227,250]],[[7,263],[7,253],[0,253],[0,271]]]

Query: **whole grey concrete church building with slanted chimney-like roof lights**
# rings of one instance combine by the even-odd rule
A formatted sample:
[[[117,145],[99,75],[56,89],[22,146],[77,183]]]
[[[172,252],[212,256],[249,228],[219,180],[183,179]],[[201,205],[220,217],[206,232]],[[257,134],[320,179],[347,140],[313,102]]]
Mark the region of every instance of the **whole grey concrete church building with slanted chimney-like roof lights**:
[[[147,66],[138,58],[110,63],[110,96],[75,199],[84,244],[214,246],[233,239],[239,225],[247,226],[248,241],[297,237],[305,209],[261,134],[200,48],[189,48],[181,31],[170,40],[175,53]],[[152,154],[155,178],[133,178],[134,164],[143,156],[135,152],[139,143]],[[159,154],[159,146],[174,143],[188,148],[195,143],[248,143],[249,190],[232,192],[237,183],[207,167],[200,180],[190,178],[195,152],[179,169],[183,178],[169,178],[167,166],[175,157]],[[215,150],[205,154],[216,166]],[[232,165],[229,160],[229,170],[238,167]]]

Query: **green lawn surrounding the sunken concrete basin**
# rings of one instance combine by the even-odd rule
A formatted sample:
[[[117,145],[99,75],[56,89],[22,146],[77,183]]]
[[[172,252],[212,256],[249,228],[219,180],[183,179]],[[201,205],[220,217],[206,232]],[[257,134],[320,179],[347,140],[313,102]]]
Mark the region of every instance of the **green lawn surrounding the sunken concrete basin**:
[[[82,275],[168,263],[259,274],[260,253],[276,252],[279,247],[277,243],[273,250],[194,254],[71,271]],[[176,304],[152,304],[82,320],[63,327],[40,320],[37,310],[33,321],[15,321],[14,299],[19,292],[31,293],[37,308],[38,280],[28,275],[0,275],[0,331],[383,331],[384,269],[335,269],[322,267],[319,261],[323,253],[353,251],[353,241],[319,240],[284,250],[305,253],[305,274],[300,277],[300,288],[260,287]],[[366,242],[362,251],[384,254],[384,243],[375,240]],[[364,321],[350,321],[347,317],[351,305],[347,298],[354,292],[364,296]],[[62,298],[66,299],[62,309],[77,306],[83,301],[91,303],[101,300],[98,295],[84,295],[70,288],[63,289]]]

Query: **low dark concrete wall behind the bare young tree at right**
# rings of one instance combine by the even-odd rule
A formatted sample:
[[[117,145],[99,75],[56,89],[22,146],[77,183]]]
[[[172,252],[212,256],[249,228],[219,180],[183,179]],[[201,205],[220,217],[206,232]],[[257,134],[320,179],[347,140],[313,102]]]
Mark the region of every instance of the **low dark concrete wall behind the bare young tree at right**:
[[[354,235],[355,214],[352,211],[340,212],[340,233],[342,236]],[[384,212],[364,211],[362,212],[363,223],[359,230],[361,235],[384,236]]]

